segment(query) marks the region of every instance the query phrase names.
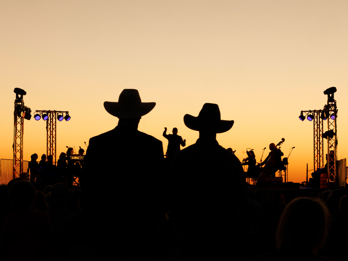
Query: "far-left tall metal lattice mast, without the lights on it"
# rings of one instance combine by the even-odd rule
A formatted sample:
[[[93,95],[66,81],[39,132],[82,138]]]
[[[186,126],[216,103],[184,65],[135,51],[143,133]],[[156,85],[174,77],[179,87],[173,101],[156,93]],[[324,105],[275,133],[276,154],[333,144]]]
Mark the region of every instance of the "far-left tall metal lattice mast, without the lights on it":
[[[23,101],[23,100],[22,100]],[[23,172],[23,134],[24,118],[18,117],[18,110],[24,108],[24,102],[15,101],[14,138],[13,138],[13,179]]]

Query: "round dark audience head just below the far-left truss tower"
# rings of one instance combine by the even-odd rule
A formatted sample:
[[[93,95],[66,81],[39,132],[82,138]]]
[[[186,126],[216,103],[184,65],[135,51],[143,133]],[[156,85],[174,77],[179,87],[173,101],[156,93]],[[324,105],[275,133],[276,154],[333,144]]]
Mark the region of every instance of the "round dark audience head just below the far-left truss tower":
[[[19,210],[26,210],[34,203],[36,190],[29,181],[16,181],[8,191],[12,205]]]

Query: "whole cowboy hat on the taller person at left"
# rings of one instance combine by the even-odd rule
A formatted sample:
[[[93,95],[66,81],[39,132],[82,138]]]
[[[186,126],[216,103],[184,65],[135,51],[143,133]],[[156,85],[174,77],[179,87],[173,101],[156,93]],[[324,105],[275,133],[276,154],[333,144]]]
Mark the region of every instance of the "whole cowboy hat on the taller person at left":
[[[122,90],[118,102],[104,102],[104,108],[112,116],[124,119],[139,118],[148,114],[156,102],[141,102],[138,90]]]

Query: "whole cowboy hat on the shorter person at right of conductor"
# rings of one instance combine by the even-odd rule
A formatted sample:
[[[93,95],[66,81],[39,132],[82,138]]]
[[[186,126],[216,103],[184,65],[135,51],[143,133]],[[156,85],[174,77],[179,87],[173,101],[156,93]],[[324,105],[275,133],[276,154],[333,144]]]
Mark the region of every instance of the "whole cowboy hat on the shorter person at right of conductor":
[[[205,103],[197,117],[185,114],[184,123],[193,130],[223,133],[232,128],[234,120],[221,120],[219,105]]]

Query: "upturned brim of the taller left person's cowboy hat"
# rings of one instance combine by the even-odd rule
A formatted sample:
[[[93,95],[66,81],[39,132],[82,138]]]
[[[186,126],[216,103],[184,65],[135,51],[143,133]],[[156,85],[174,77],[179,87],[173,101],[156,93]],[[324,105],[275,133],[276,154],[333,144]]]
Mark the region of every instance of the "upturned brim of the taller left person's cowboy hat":
[[[124,119],[133,119],[148,114],[155,108],[156,102],[142,102],[133,111],[122,111],[119,109],[118,102],[104,102],[104,108],[112,116]]]

